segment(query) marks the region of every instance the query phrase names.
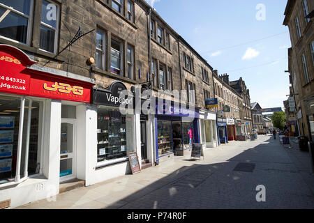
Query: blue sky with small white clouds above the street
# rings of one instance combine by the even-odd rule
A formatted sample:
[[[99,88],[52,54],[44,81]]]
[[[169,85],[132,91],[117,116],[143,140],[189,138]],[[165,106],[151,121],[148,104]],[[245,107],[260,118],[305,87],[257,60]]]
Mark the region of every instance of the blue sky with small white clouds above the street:
[[[251,102],[283,107],[289,94],[287,0],[147,0],[221,75],[242,77]]]

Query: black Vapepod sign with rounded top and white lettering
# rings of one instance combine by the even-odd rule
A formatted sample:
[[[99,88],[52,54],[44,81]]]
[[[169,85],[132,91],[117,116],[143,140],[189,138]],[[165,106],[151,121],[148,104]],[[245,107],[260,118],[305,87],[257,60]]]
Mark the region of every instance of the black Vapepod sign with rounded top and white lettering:
[[[134,96],[128,91],[126,86],[119,81],[112,82],[108,89],[93,89],[93,103],[95,105],[107,105],[112,107],[133,108]]]

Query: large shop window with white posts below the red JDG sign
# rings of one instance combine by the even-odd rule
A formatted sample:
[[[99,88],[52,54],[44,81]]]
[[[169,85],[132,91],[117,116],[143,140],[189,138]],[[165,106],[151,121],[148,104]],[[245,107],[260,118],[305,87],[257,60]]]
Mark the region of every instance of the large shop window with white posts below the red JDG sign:
[[[21,100],[20,97],[0,95],[0,184],[40,173],[43,104],[26,99],[21,105]],[[23,123],[21,129],[20,123]]]

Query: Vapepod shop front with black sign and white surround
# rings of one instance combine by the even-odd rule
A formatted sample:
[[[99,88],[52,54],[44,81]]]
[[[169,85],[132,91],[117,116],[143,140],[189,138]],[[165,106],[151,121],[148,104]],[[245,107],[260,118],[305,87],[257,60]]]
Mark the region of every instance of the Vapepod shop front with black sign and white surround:
[[[114,81],[107,89],[93,89],[92,102],[94,122],[86,161],[92,168],[87,170],[86,185],[129,174],[128,153],[137,152],[139,160],[148,155],[141,149],[144,133],[141,116],[135,113],[135,97],[124,83]]]

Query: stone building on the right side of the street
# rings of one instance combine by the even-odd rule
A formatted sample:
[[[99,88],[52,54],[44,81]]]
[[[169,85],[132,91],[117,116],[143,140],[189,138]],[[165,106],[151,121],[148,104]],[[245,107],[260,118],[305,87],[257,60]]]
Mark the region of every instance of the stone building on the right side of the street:
[[[296,104],[294,118],[299,134],[314,136],[314,31],[313,1],[287,1],[283,25],[289,28],[292,47],[288,49],[290,84]]]

